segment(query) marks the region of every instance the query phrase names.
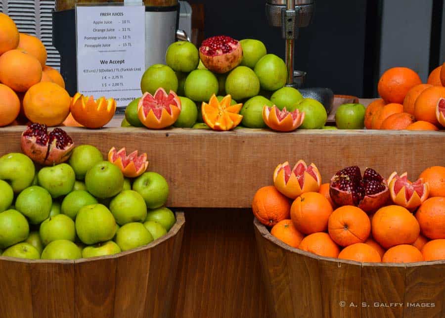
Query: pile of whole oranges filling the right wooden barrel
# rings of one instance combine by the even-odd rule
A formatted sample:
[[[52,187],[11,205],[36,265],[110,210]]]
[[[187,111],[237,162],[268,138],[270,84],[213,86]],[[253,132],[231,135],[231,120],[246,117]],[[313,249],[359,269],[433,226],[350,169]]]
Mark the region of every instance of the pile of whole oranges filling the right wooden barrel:
[[[293,202],[274,185],[262,187],[252,210],[271,227],[271,235],[316,255],[357,262],[445,260],[445,167],[430,167],[419,178],[428,182],[430,194],[414,213],[391,198],[373,214],[351,205],[337,207],[329,183]]]

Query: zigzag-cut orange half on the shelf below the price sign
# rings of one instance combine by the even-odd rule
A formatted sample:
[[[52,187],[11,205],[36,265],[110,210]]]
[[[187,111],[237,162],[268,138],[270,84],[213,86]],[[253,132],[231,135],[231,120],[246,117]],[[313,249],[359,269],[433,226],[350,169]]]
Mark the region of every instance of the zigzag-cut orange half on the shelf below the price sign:
[[[116,112],[114,98],[105,99],[84,96],[76,93],[71,99],[71,115],[80,125],[87,128],[100,128],[108,124]]]

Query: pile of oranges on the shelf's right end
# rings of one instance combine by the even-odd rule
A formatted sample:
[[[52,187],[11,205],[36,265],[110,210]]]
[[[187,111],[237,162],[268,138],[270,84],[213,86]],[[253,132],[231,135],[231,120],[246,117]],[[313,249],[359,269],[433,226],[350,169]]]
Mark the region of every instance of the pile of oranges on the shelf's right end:
[[[445,63],[444,63],[445,65]],[[380,99],[366,108],[365,127],[437,131],[445,126],[445,66],[433,70],[426,84],[406,67],[387,70],[379,80]],[[438,106],[442,101],[441,106]]]

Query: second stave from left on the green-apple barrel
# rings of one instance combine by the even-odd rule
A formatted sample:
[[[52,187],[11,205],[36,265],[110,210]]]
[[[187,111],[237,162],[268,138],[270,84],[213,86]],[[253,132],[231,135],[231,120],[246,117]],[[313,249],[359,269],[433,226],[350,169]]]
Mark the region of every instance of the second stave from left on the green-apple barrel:
[[[74,261],[30,263],[35,318],[74,318]]]

